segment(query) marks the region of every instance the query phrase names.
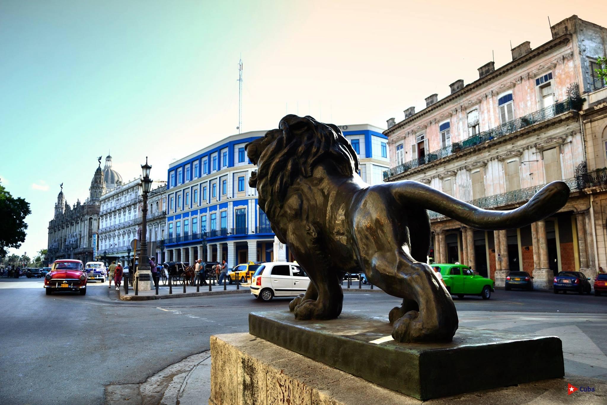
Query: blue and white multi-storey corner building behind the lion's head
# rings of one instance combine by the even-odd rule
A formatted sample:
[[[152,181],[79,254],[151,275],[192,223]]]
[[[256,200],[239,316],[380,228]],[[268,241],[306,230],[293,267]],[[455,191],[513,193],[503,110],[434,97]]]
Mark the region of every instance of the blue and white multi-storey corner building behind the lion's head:
[[[381,183],[390,167],[384,130],[368,124],[340,128],[359,154],[362,179]],[[231,135],[169,165],[166,261],[225,259],[232,267],[293,259],[259,209],[257,190],[249,187],[256,166],[246,157],[245,145],[265,132]]]

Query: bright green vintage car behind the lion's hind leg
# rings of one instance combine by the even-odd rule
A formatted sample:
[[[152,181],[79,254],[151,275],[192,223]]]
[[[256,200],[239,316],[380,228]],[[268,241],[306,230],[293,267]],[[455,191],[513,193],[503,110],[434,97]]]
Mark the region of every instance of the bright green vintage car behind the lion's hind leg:
[[[430,267],[441,269],[441,275],[447,291],[458,298],[464,295],[480,295],[483,299],[491,298],[493,280],[474,274],[469,267],[461,264],[432,264]]]

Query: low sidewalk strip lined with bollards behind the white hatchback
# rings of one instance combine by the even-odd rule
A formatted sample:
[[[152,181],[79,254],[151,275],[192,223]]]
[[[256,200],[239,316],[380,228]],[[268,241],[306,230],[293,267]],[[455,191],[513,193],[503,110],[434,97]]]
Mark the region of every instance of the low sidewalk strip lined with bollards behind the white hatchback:
[[[351,284],[348,288],[347,281],[344,281],[342,290],[344,293],[383,293],[378,287],[373,286],[371,288],[368,284],[362,284],[361,288],[358,288],[358,281],[354,281],[356,284]],[[174,285],[173,293],[169,294],[168,285],[160,285],[158,288],[158,295],[156,290],[150,291],[138,291],[137,296],[135,290],[129,286],[129,294],[124,293],[124,286],[120,288],[120,299],[122,301],[148,301],[150,299],[168,299],[168,298],[183,298],[183,297],[204,297],[208,295],[222,295],[222,294],[250,294],[251,284],[240,284],[240,288],[237,290],[236,284],[226,284],[226,289],[223,290],[223,285],[211,285],[211,291],[209,291],[208,285],[201,285],[199,292],[196,292],[196,287],[186,285],[186,292],[183,292],[183,285]]]

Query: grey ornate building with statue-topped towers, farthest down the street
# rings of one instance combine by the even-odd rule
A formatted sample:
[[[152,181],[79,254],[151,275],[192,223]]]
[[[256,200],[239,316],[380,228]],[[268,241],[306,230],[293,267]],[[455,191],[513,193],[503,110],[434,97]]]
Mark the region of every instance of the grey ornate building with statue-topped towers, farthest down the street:
[[[107,191],[106,179],[114,180],[114,187],[122,180],[120,174],[111,169],[111,166],[112,158],[108,156],[106,167],[101,169],[99,158],[99,166],[90,182],[89,198],[84,203],[79,199],[75,204],[69,205],[61,183],[61,191],[55,203],[55,217],[49,222],[49,263],[57,259],[78,259],[86,263],[98,256],[95,247],[101,196]]]

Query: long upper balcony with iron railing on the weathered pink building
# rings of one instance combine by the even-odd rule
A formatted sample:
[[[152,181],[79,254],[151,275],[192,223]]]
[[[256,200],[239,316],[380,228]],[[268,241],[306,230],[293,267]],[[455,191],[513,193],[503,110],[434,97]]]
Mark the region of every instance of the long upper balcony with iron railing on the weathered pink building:
[[[578,99],[567,98],[565,101],[560,101],[552,106],[532,112],[531,114],[524,115],[523,117],[515,120],[508,121],[500,126],[488,129],[487,131],[480,132],[474,137],[467,138],[461,142],[455,142],[452,145],[446,146],[445,148],[430,152],[423,157],[409,160],[409,162],[404,162],[401,165],[384,171],[384,182],[390,181],[393,177],[396,177],[411,169],[418,168],[419,166],[426,165],[427,163],[436,162],[437,160],[441,160],[447,156],[457,154],[461,151],[466,151],[467,149],[475,148],[478,145],[505,137],[506,135],[514,134],[517,131],[521,131],[523,128],[550,120],[551,118],[554,118],[560,114],[565,114],[568,111],[575,110],[578,107],[578,102]]]

